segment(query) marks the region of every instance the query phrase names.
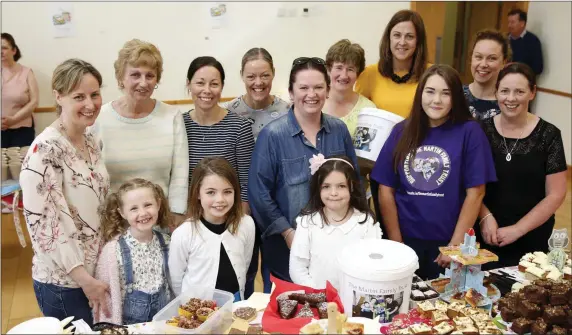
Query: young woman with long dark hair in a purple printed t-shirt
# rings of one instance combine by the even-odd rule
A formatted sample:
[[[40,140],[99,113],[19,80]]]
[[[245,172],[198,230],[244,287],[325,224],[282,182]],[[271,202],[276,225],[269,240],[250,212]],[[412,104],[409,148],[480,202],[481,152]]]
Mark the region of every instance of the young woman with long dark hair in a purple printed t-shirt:
[[[457,72],[433,65],[415,92],[411,114],[397,124],[372,172],[391,240],[419,257],[418,275],[436,278],[449,259],[438,247],[460,244],[496,181],[487,138],[469,113]]]

